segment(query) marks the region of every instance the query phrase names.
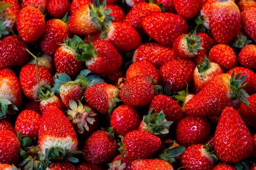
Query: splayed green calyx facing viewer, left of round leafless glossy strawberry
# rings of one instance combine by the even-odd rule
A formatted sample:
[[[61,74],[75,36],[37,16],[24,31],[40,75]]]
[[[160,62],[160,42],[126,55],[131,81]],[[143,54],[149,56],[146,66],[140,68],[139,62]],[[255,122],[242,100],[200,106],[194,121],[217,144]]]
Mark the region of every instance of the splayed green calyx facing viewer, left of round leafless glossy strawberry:
[[[156,113],[154,109],[151,109],[148,115],[143,116],[143,122],[145,130],[156,136],[169,133],[167,128],[172,124],[171,121],[165,121],[165,114],[162,110]]]

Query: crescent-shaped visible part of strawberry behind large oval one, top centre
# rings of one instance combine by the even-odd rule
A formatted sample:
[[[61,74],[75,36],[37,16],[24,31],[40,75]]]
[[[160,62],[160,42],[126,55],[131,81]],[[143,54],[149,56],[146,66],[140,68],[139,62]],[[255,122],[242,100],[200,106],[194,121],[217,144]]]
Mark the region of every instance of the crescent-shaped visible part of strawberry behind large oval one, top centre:
[[[127,13],[124,22],[130,24],[138,33],[144,33],[142,20],[150,15],[160,13],[161,9],[157,4],[153,3],[138,3],[132,6],[132,9]]]

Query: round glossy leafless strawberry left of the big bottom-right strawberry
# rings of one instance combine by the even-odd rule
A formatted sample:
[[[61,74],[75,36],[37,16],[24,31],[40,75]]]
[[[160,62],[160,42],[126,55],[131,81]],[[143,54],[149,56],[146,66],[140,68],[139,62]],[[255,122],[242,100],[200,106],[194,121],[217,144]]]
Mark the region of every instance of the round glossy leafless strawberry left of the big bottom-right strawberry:
[[[188,116],[179,121],[176,140],[181,146],[204,143],[210,133],[210,123],[203,117]]]

